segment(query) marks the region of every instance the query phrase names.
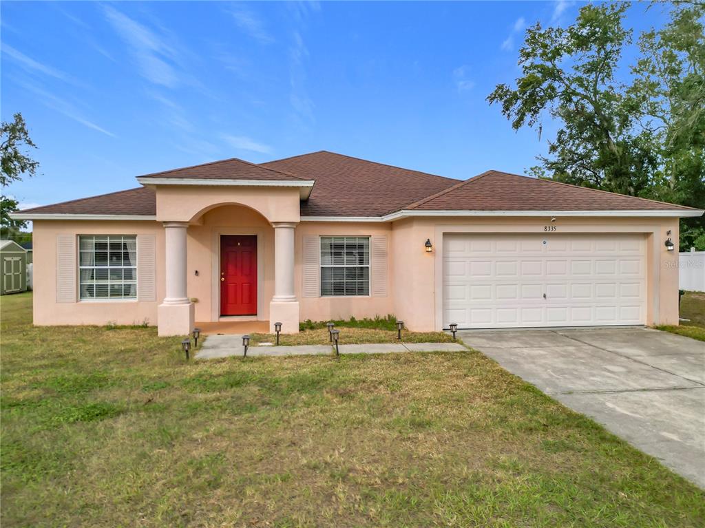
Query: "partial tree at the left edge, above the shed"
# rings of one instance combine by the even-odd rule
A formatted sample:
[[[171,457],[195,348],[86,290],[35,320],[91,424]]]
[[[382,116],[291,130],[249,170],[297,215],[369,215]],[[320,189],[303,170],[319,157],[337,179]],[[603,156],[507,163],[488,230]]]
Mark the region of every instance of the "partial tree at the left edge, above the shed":
[[[13,121],[0,123],[0,226],[4,237],[9,238],[11,233],[27,225],[24,221],[10,218],[10,214],[18,210],[18,202],[6,196],[5,190],[25,175],[35,176],[39,162],[27,153],[30,148],[36,149],[37,146],[30,139],[21,113],[16,113]]]

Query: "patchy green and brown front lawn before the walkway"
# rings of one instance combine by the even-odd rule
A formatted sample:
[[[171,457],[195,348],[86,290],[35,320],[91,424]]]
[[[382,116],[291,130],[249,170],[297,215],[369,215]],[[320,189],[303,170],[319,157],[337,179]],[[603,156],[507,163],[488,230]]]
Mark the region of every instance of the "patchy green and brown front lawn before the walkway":
[[[187,363],[0,303],[3,527],[705,525],[704,491],[478,352]]]

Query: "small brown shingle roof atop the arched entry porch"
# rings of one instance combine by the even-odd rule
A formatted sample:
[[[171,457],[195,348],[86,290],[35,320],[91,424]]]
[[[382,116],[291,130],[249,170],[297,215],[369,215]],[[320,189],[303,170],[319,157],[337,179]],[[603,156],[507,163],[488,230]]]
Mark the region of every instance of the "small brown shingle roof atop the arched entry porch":
[[[221,161],[211,161],[201,165],[174,168],[152,174],[143,174],[140,178],[204,178],[222,180],[305,180],[293,174],[255,165],[250,161],[231,158]]]

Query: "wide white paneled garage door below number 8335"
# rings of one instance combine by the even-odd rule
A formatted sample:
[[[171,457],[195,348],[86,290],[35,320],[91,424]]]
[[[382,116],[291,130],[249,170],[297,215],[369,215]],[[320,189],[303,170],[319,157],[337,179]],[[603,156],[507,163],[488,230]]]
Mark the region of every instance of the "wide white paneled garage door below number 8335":
[[[443,326],[644,324],[642,235],[443,238]]]

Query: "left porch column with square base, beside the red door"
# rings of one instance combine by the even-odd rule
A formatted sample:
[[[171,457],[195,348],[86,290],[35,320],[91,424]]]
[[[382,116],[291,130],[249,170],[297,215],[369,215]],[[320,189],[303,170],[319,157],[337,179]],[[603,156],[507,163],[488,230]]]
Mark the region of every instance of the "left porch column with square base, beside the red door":
[[[186,293],[186,228],[188,222],[164,222],[166,295],[157,308],[159,336],[188,336],[194,306]]]

